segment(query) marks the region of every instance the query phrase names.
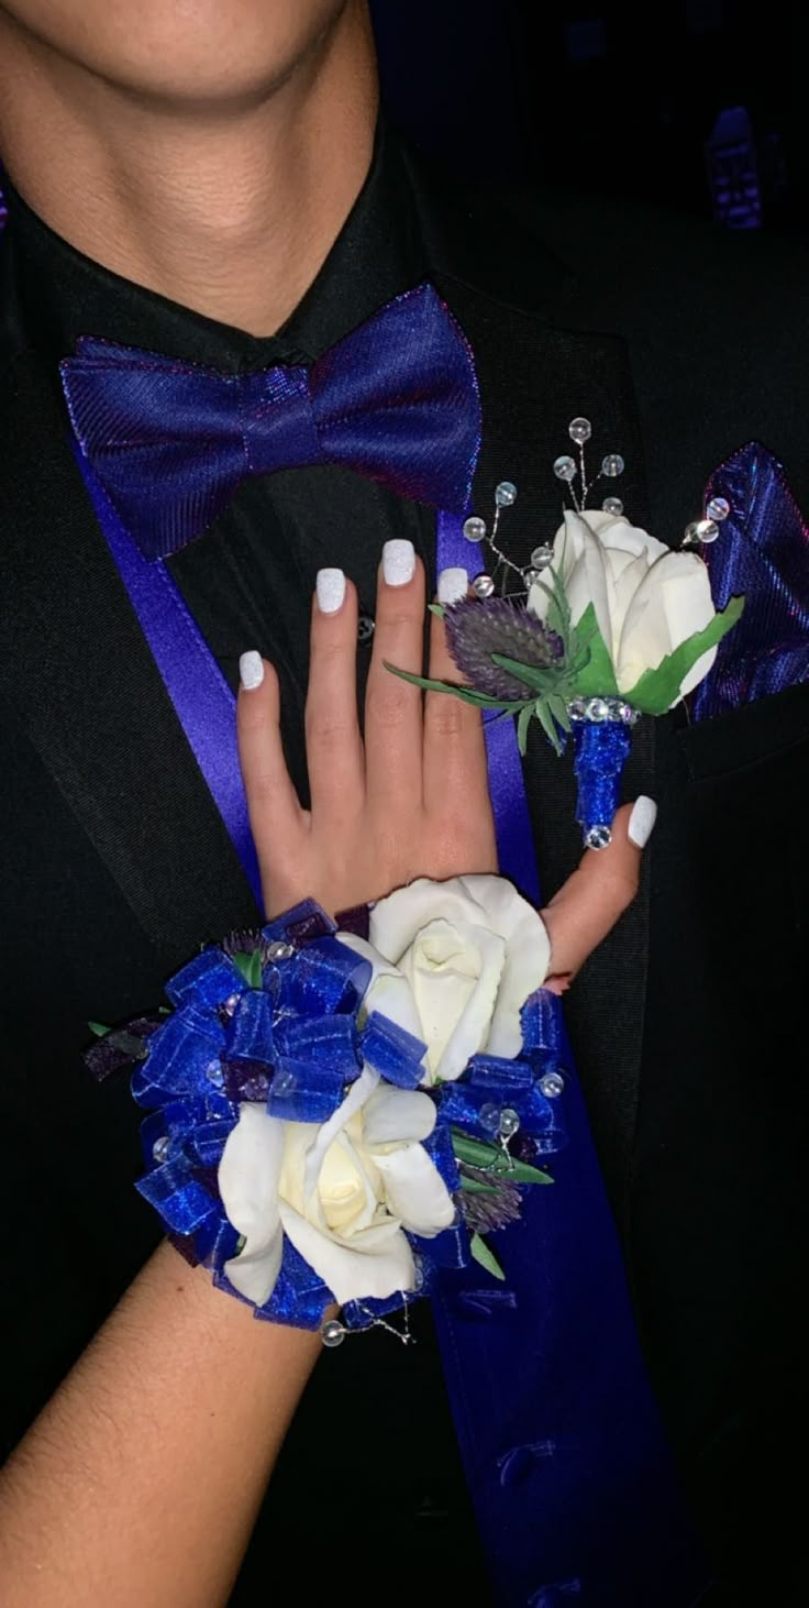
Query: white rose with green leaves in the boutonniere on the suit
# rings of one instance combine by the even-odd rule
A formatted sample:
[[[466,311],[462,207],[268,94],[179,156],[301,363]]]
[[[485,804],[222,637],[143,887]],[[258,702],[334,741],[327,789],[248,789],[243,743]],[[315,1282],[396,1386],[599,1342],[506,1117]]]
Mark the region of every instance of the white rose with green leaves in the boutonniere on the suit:
[[[568,510],[550,572],[571,626],[590,638],[577,691],[621,695],[647,714],[664,714],[708,675],[717,642],[741,611],[740,600],[716,611],[698,553],[672,552],[611,513]],[[550,572],[528,598],[542,621],[553,613]]]

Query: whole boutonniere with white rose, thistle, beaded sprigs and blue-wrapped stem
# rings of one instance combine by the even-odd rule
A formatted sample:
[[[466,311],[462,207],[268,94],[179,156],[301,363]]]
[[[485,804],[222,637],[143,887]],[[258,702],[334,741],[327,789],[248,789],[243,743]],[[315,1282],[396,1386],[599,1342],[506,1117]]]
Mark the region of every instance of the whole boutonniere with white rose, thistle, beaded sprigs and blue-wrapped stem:
[[[576,817],[585,844],[602,849],[610,843],[632,727],[642,716],[666,714],[698,687],[745,600],[714,606],[701,555],[730,511],[724,498],[712,498],[703,518],[687,526],[677,550],[634,526],[614,495],[600,510],[587,508],[590,433],[589,420],[573,420],[579,465],[569,453],[553,465],[573,507],[553,542],[536,547],[526,566],[499,545],[503,510],[516,502],[510,481],[495,490],[491,532],[476,515],[466,519],[465,535],[486,544],[494,563],[474,576],[468,598],[433,605],[463,680],[389,669],[426,690],[463,698],[489,717],[515,716],[521,753],[532,720],[558,754],[571,738]],[[622,458],[610,453],[593,484],[622,471]]]

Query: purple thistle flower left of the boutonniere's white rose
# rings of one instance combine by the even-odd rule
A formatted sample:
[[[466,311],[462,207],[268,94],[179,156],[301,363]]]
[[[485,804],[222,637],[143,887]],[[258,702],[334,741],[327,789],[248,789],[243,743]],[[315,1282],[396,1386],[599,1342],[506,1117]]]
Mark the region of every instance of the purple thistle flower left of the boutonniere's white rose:
[[[465,598],[444,611],[444,624],[449,651],[470,687],[503,703],[531,698],[531,688],[499,669],[492,653],[537,671],[558,664],[565,653],[561,637],[511,598]]]

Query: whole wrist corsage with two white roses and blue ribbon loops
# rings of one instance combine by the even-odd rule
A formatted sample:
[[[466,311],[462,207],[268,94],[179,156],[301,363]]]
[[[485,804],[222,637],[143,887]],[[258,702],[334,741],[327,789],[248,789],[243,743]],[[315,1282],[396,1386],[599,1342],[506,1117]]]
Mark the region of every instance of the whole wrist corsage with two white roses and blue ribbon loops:
[[[420,880],[351,931],[307,902],[204,949],[170,1011],[97,1029],[87,1060],[135,1061],[138,1190],[217,1286],[328,1344],[404,1307],[407,1338],[441,1267],[502,1277],[489,1235],[552,1182],[547,966],[542,918],[499,876]]]

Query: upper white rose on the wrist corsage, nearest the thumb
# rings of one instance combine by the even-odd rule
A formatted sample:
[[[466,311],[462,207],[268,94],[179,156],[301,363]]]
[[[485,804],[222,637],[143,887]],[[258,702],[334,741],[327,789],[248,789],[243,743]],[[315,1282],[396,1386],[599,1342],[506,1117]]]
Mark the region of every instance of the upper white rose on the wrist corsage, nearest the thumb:
[[[519,1011],[544,982],[550,942],[532,905],[502,876],[420,878],[370,912],[365,1010],[426,1044],[425,1082],[460,1077],[473,1055],[519,1055]]]

